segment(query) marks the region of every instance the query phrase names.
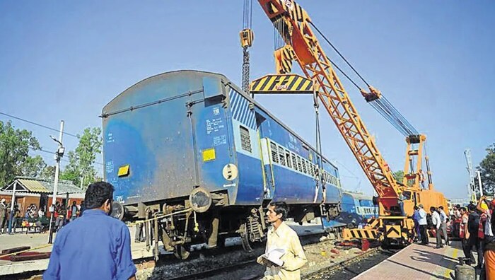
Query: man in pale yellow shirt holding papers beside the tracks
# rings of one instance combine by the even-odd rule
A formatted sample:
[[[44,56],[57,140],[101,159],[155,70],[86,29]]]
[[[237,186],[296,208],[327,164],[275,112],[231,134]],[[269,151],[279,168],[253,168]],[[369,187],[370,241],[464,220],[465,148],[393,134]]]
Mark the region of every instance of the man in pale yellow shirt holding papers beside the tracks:
[[[263,280],[301,279],[301,267],[308,262],[296,231],[284,223],[288,213],[289,210],[285,202],[270,202],[268,205],[268,221],[272,223],[273,227],[268,231],[265,252],[282,249],[285,253],[280,257],[283,262],[281,266],[258,257],[257,262],[267,267]]]

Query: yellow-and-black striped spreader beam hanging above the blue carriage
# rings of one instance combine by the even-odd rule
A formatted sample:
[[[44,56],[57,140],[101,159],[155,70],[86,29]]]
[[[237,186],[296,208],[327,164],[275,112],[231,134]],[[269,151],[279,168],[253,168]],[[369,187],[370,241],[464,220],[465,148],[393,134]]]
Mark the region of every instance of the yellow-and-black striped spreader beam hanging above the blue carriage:
[[[282,94],[313,93],[313,81],[298,74],[274,74],[262,76],[251,82],[250,93]]]

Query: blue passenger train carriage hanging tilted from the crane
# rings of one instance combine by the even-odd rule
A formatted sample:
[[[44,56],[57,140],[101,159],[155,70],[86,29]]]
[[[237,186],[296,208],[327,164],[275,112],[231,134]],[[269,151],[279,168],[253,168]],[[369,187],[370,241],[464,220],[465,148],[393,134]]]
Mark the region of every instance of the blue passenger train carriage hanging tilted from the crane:
[[[337,168],[221,74],[146,78],[101,117],[112,215],[144,220],[156,254],[158,240],[184,259],[191,244],[239,235],[250,250],[271,201],[298,222],[339,214]]]

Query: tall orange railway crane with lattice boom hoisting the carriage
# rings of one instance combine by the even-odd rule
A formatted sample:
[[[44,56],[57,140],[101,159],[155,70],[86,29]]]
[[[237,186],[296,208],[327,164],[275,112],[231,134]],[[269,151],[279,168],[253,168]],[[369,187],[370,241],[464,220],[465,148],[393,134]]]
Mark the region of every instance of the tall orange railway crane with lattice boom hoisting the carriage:
[[[267,75],[252,81],[252,93],[257,92],[255,88],[261,91],[269,88],[272,92],[286,90],[293,92],[294,86],[291,81],[301,80],[298,75],[289,74],[292,69],[292,62],[296,61],[306,77],[306,81],[299,81],[298,83],[305,85],[312,83],[315,95],[324,105],[325,110],[351,148],[356,160],[378,194],[379,218],[370,223],[366,229],[344,231],[344,237],[379,237],[388,243],[408,243],[414,228],[414,223],[409,217],[412,216],[412,209],[415,204],[423,204],[426,211],[428,211],[429,206],[439,205],[443,205],[447,209],[447,201],[443,194],[433,189],[430,171],[428,171],[429,187],[424,189],[419,186],[421,181],[419,169],[421,169],[421,156],[426,136],[421,134],[407,136],[404,181],[402,183],[397,182],[351,102],[349,94],[342,86],[342,82],[334,70],[334,65],[313,33],[313,28],[319,30],[313,25],[308,13],[293,0],[258,1],[281,39],[279,46],[276,46],[278,49],[274,52],[277,74]],[[264,83],[260,83],[260,81],[264,81]],[[387,105],[388,101],[382,98],[380,91],[369,85],[368,88],[369,92],[361,90],[361,94],[368,103],[376,106]],[[406,130],[405,132],[412,131]],[[416,166],[412,164],[414,158],[417,158]],[[427,158],[426,163],[429,165]],[[417,169],[414,170],[414,167]],[[405,215],[400,209],[399,198],[403,199]]]

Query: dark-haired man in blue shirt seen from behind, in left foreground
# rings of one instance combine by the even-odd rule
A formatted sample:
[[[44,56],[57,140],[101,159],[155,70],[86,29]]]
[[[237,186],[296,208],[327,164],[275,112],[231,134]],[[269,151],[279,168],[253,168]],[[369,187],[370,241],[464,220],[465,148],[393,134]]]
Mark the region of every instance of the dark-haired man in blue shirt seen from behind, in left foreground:
[[[43,279],[135,279],[129,229],[108,216],[113,191],[107,182],[89,185],[84,216],[57,233]]]

